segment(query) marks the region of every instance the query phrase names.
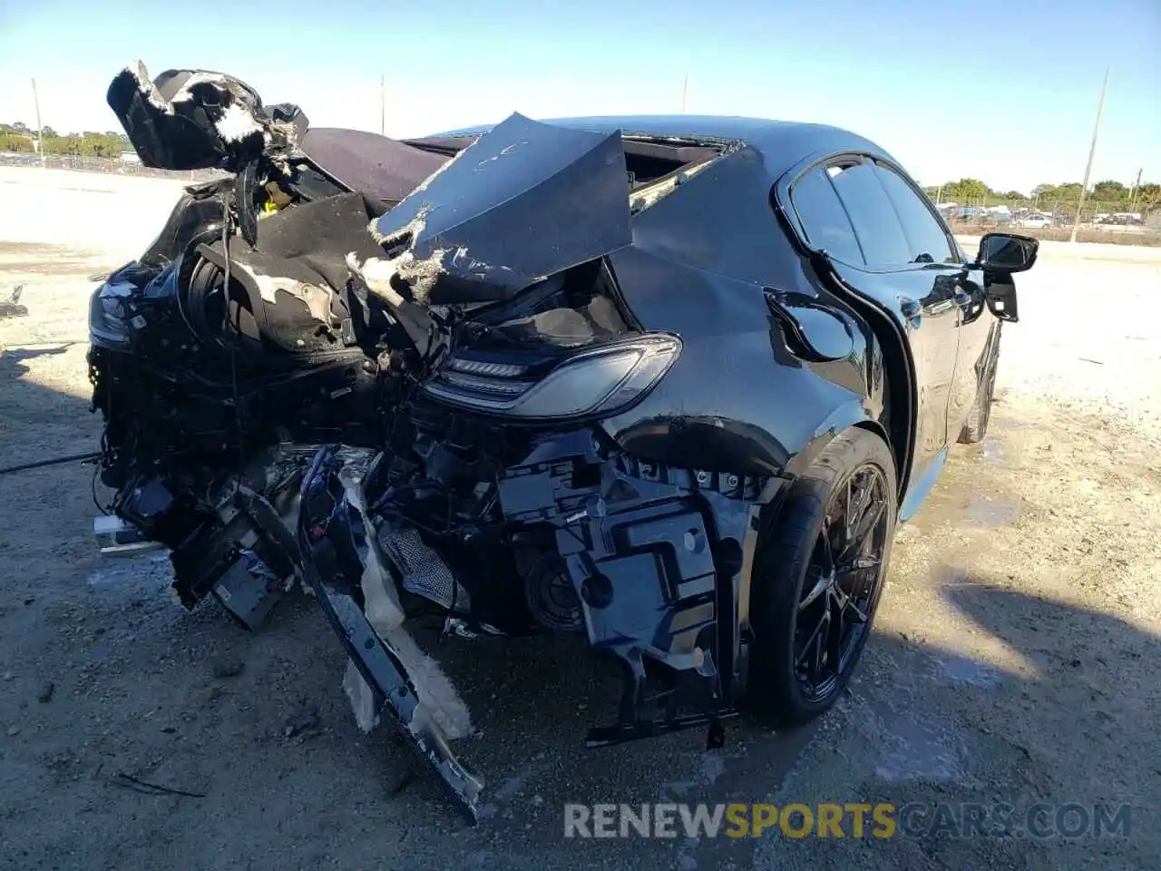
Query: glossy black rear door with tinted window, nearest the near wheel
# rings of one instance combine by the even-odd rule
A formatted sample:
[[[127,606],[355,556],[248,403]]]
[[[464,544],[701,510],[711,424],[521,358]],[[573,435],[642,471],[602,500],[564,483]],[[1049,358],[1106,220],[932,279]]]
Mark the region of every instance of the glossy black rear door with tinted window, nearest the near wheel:
[[[924,240],[908,239],[879,167],[867,156],[825,160],[799,175],[788,193],[809,246],[825,251],[844,282],[904,325],[917,393],[908,501],[913,495],[922,498],[949,444],[959,326],[956,293],[962,268],[958,251],[942,230],[942,246],[926,239],[931,250],[920,251]],[[904,516],[909,513],[904,504]]]

